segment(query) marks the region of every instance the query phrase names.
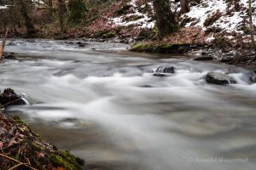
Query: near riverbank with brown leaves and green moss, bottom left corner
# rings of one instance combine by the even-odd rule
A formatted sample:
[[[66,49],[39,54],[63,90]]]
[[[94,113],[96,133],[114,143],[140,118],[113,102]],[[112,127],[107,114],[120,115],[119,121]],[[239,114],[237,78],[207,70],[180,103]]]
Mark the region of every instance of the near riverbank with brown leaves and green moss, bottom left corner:
[[[23,122],[0,111],[1,169],[82,170],[84,161],[58,150]]]

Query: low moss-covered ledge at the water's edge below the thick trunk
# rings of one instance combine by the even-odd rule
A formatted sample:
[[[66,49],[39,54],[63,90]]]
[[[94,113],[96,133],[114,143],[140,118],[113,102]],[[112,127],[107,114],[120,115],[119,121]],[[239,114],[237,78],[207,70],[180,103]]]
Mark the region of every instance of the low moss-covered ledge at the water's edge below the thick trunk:
[[[131,45],[130,51],[160,53],[160,54],[183,54],[189,48],[189,44],[149,43],[138,42]]]

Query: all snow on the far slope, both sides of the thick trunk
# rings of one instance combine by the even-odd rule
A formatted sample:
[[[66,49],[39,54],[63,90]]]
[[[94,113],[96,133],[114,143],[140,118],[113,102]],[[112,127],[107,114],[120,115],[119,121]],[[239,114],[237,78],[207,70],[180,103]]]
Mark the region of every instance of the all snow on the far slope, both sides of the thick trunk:
[[[193,3],[194,2],[194,3]],[[180,10],[180,3],[175,3],[171,0],[172,11],[177,14]],[[187,20],[186,27],[200,27],[206,31],[208,28],[215,28],[219,31],[236,31],[241,32],[247,27],[247,0],[201,0],[201,3],[196,5],[192,0],[190,11],[181,16],[182,20]],[[150,14],[140,12],[139,8],[149,7],[148,10],[152,13],[153,5],[150,1],[142,3],[141,0],[131,0],[127,5],[131,5],[130,13],[115,16],[109,19],[113,26],[137,26],[142,28],[153,28],[155,21],[152,20]],[[253,0],[253,7],[256,7],[256,1]],[[134,17],[134,20],[126,20]],[[256,15],[254,14],[253,23],[256,24]]]

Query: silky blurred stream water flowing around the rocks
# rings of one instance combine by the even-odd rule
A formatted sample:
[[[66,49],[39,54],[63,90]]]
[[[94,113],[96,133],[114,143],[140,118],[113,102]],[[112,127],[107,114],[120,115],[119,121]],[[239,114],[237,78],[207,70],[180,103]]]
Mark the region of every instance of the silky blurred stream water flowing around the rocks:
[[[26,93],[9,108],[62,150],[103,170],[254,170],[256,84],[249,71],[187,56],[137,54],[124,44],[10,40],[0,88]],[[174,65],[170,77],[154,77]],[[209,71],[237,84],[207,84]]]

